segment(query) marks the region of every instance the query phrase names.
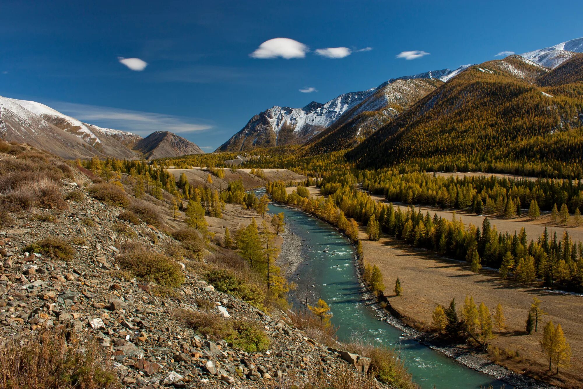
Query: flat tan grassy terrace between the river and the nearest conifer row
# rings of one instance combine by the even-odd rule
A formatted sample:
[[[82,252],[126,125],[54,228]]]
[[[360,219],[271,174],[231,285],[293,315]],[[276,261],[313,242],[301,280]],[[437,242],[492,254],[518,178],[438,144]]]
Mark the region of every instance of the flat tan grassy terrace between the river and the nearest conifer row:
[[[519,350],[522,356],[537,362],[535,371],[545,374],[548,362],[540,351],[541,327],[532,335],[524,332],[528,309],[533,296],[537,296],[542,300],[543,309],[549,312],[549,316],[543,317],[542,326],[548,320],[560,323],[573,350],[570,374],[563,378],[570,386],[583,384],[583,296],[519,287],[498,280],[495,271],[473,275],[466,264],[443,259],[426,250],[411,249],[396,239],[384,236],[378,242],[369,241],[364,228],[361,228],[360,239],[365,258],[381,268],[387,286],[385,294],[390,296],[391,306],[403,316],[429,324],[437,304],[448,305],[455,297],[461,309],[466,294],[473,296],[476,305],[484,302],[491,313],[500,303],[508,328],[491,343]],[[403,286],[403,295],[399,297],[392,296],[397,276]]]

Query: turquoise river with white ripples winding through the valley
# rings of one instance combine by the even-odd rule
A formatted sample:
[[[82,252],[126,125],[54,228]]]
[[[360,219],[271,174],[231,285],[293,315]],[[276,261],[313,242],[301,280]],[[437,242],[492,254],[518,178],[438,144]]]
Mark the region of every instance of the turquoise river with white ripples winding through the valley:
[[[349,341],[356,334],[368,342],[390,345],[399,352],[413,380],[423,388],[510,387],[403,337],[401,330],[378,320],[374,310],[363,304],[354,247],[348,239],[331,225],[299,210],[269,204],[269,213],[280,212],[285,214],[287,231],[301,239],[297,243],[300,247],[296,247],[301,263],[290,277],[290,281],[298,284],[290,295],[294,306],[301,306],[306,289],[310,301],[324,299],[333,313],[332,324],[339,327],[339,340]]]

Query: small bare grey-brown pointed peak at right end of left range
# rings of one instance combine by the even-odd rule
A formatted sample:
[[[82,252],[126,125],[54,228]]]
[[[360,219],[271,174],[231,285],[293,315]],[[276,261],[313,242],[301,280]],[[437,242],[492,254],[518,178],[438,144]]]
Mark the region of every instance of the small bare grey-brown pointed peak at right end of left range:
[[[147,160],[187,154],[203,154],[196,144],[168,131],[156,131],[134,145]]]

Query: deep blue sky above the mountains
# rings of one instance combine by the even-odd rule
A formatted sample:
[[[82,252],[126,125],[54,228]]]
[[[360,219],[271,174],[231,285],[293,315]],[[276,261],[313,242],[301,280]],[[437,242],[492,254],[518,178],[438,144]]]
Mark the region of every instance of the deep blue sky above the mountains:
[[[581,1],[5,0],[0,6],[1,96],[142,136],[172,130],[205,151],[273,105],[326,102],[392,77],[583,36]],[[273,38],[296,43],[259,49]],[[396,57],[406,51],[421,53]],[[132,60],[126,66],[120,58]]]

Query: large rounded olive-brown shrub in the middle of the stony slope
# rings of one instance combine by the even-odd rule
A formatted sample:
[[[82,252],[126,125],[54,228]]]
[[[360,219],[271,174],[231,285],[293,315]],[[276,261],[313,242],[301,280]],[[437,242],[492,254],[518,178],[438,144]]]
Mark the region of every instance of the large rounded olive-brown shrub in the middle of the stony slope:
[[[118,256],[120,266],[144,281],[164,287],[179,287],[184,282],[182,267],[167,255],[147,251],[141,245],[124,245]]]

